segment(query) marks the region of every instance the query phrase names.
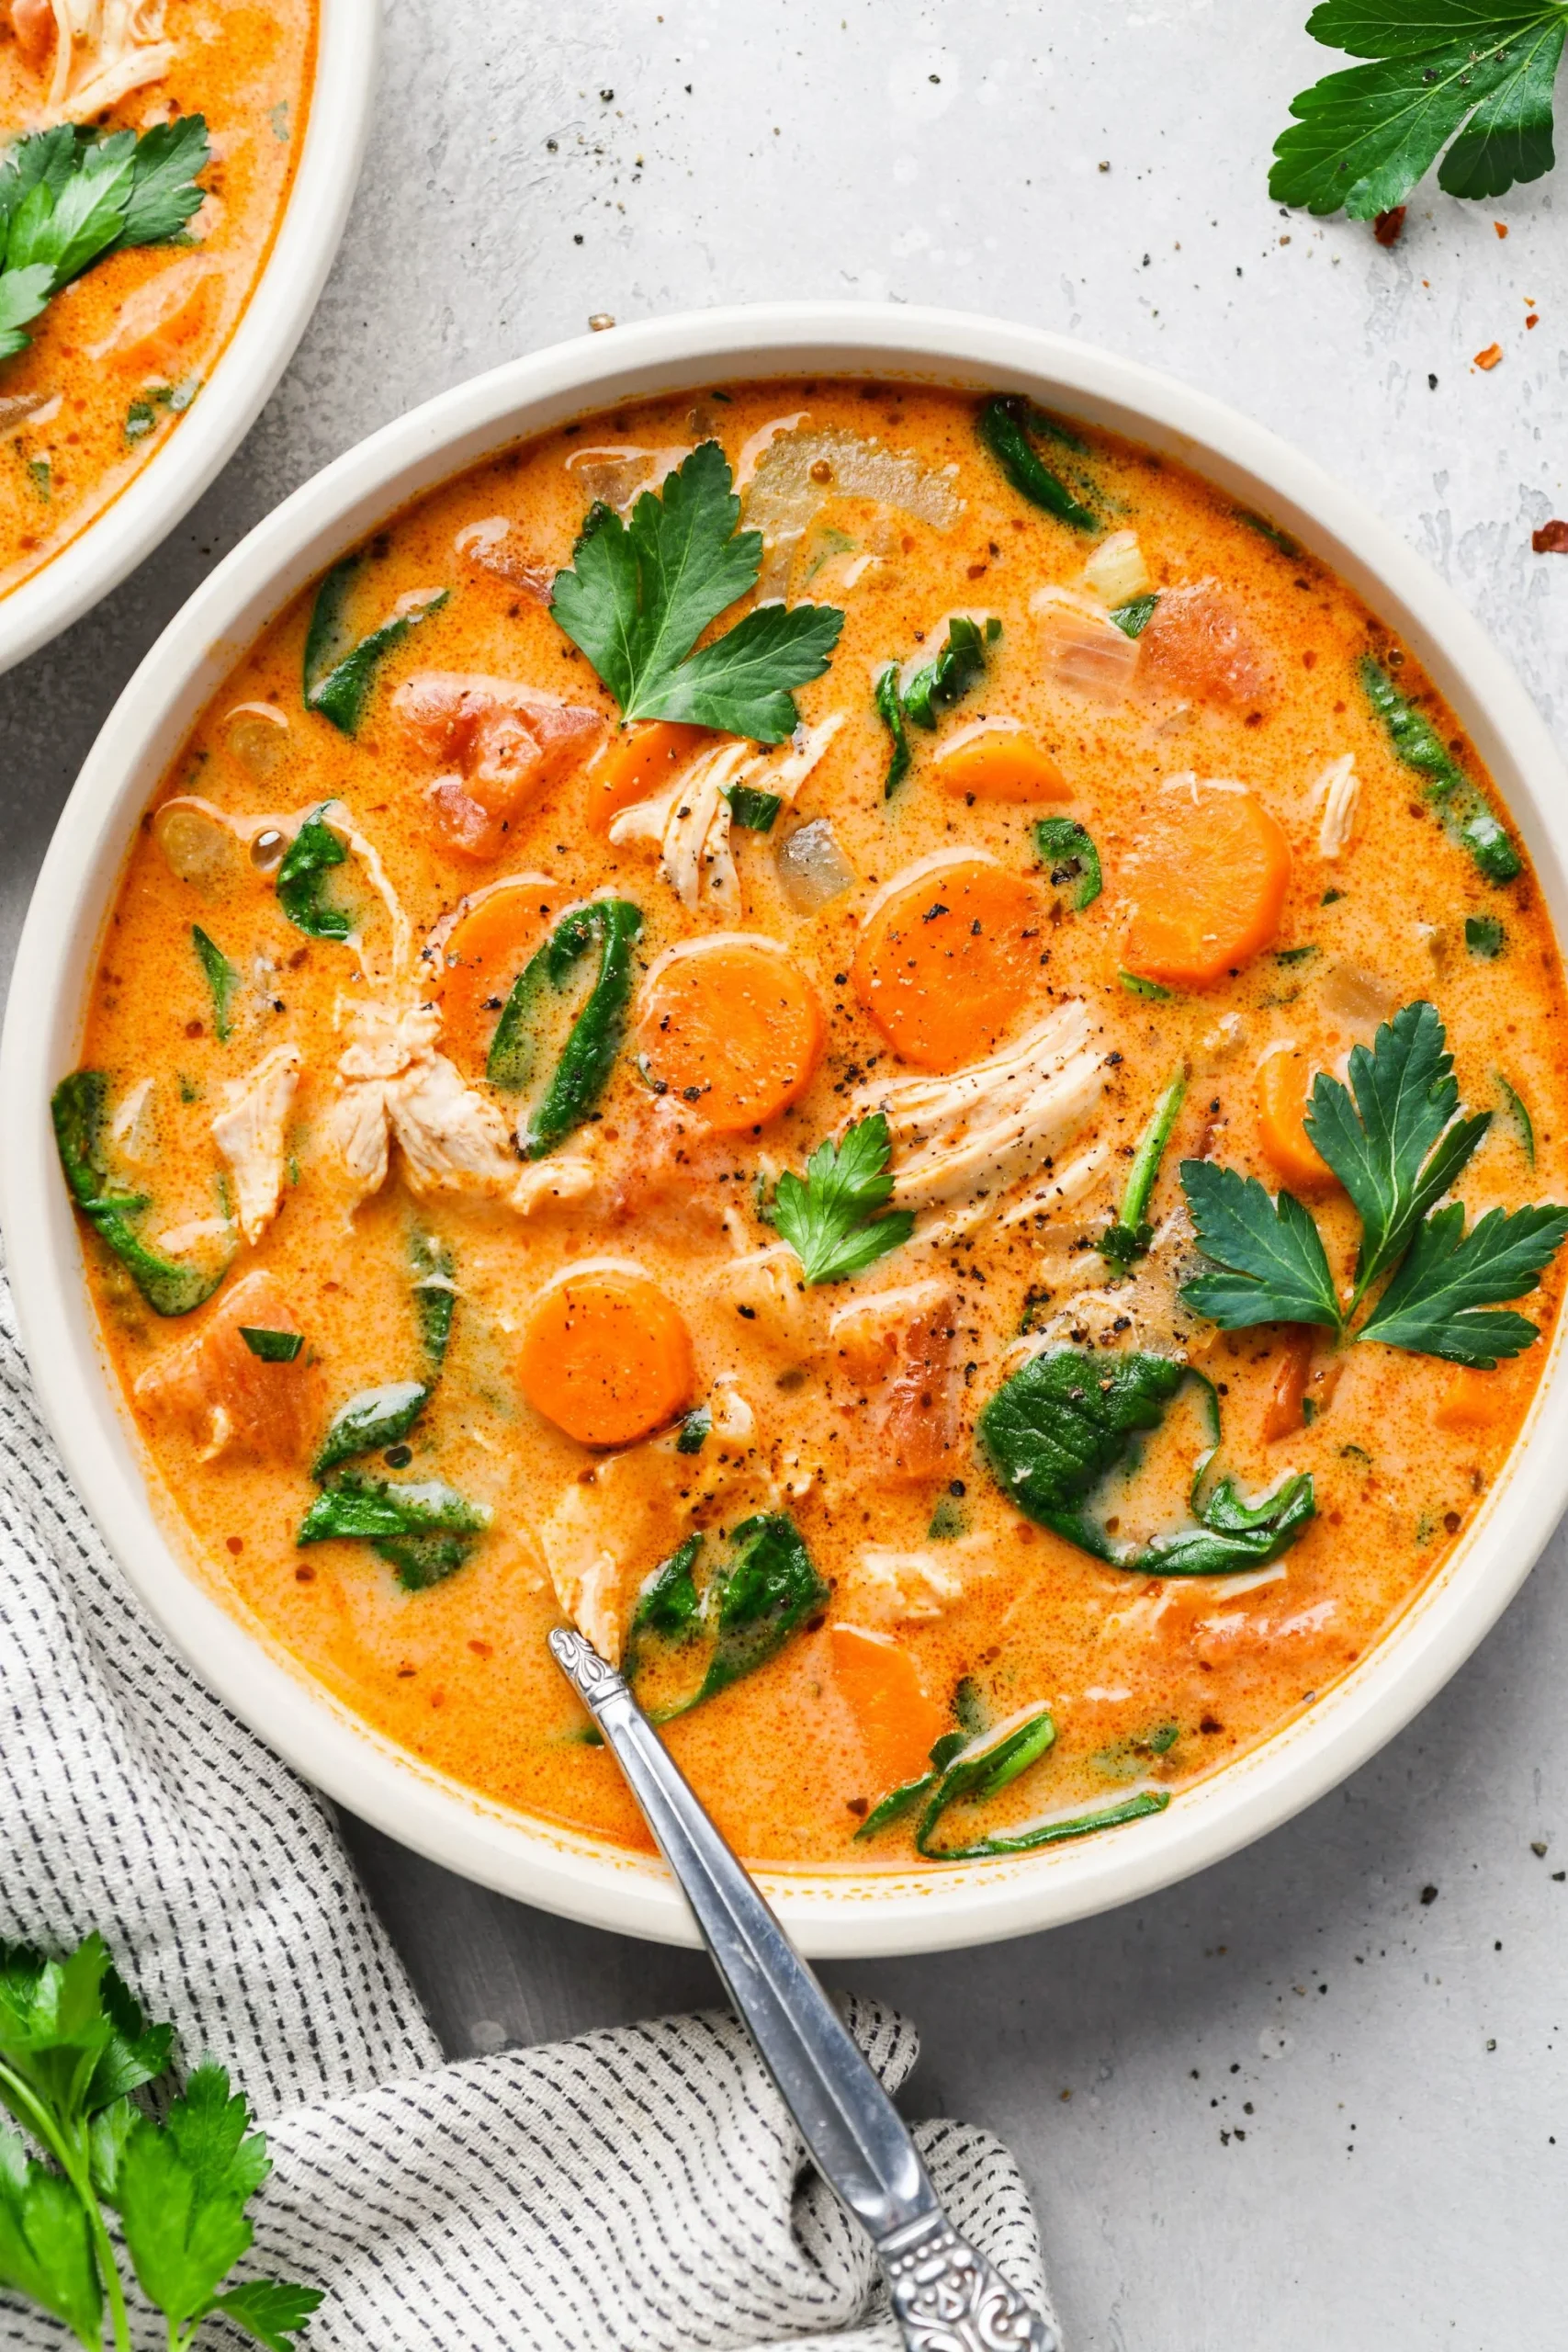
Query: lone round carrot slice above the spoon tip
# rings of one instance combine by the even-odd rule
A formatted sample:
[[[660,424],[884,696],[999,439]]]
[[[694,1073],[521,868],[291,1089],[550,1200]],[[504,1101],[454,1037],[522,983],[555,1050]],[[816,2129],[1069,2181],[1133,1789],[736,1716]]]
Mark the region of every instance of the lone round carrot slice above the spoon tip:
[[[691,1404],[691,1334],[635,1265],[581,1265],[538,1298],[517,1385],[583,1446],[630,1446]]]

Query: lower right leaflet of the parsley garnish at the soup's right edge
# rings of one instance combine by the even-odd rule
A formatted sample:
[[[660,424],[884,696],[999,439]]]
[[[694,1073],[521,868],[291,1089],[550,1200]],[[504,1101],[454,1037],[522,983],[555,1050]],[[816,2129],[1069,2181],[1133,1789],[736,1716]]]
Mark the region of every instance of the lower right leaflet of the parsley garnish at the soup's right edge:
[[[1523,1315],[1481,1315],[1479,1308],[1533,1291],[1563,1237],[1568,1209],[1488,1209],[1465,1232],[1465,1207],[1455,1200],[1418,1230],[1356,1338],[1490,1371],[1540,1334]]]

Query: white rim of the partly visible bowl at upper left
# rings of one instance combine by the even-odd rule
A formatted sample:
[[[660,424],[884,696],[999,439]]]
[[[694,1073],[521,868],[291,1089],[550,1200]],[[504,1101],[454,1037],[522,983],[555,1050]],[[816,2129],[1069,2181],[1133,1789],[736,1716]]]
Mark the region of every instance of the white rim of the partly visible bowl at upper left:
[[[0,673],[80,621],[174,529],[228,463],[294,358],[353,202],[381,56],[381,0],[317,0],[306,146],[268,263],[202,397],[141,473],[12,595]]]

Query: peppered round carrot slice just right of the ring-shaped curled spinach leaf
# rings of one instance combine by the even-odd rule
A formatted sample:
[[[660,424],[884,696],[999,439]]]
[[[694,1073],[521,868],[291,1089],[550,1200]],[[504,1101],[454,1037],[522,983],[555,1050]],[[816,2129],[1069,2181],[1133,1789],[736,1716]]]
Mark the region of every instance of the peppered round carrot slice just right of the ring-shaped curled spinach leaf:
[[[811,981],[771,938],[715,931],[670,948],[642,985],[646,1075],[722,1136],[799,1101],[823,1051]]]

